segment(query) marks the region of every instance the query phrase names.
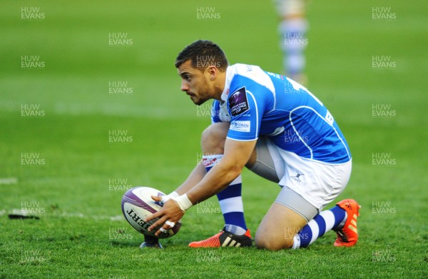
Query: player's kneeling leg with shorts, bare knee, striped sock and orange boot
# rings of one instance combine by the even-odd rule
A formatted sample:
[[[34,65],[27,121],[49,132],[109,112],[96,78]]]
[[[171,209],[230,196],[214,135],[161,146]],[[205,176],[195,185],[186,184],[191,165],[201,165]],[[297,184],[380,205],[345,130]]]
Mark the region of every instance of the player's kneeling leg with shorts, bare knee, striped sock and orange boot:
[[[318,173],[335,173],[334,181],[337,186],[323,187],[316,186],[312,188],[312,192],[307,195],[318,195],[320,193],[328,193],[327,189],[335,188],[335,191],[330,191],[327,196],[321,194],[322,201],[329,203],[345,188],[350,176],[351,163],[343,166],[322,166],[322,169],[317,169],[317,166],[305,166],[305,161],[300,161],[295,156],[290,156],[285,160],[282,158],[278,149],[267,138],[259,138],[256,146],[256,159],[251,166],[248,166],[251,171],[278,182],[279,178],[284,177],[282,183],[293,183],[289,178],[295,173],[296,169],[304,170],[301,174],[303,177],[297,178],[299,183],[307,181],[308,185],[313,186],[312,176]],[[285,163],[287,162],[287,163]],[[291,168],[290,168],[291,167]],[[307,168],[309,167],[309,168]],[[324,169],[326,168],[326,169]],[[332,169],[333,168],[333,169]],[[275,174],[278,177],[275,179]],[[304,177],[307,176],[307,179]],[[320,180],[329,181],[328,177],[318,176]],[[330,183],[334,183],[330,181]],[[328,183],[329,185],[331,185]],[[322,189],[321,191],[319,190]],[[256,233],[255,242],[260,248],[270,250],[279,250],[282,248],[300,248],[307,247],[317,238],[327,233],[328,230],[335,230],[337,240],[335,246],[352,246],[355,245],[358,239],[357,234],[357,216],[360,206],[356,201],[344,200],[337,203],[337,206],[330,210],[318,213],[318,209],[302,198],[300,194],[295,193],[288,187],[282,187],[275,203],[263,218],[262,223]]]

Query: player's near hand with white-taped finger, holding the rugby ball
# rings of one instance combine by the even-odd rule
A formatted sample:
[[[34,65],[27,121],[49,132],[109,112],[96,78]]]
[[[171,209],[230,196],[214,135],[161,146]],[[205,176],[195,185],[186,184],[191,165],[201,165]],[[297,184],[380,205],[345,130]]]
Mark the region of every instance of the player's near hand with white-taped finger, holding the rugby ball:
[[[151,196],[154,201],[161,201],[162,197],[158,196]],[[160,235],[162,233],[162,230],[169,230],[170,228],[173,228],[175,223],[178,222],[184,215],[184,211],[180,209],[180,206],[178,206],[178,203],[173,200],[168,200],[163,204],[163,208],[159,210],[157,213],[154,213],[153,215],[148,216],[145,222],[148,222],[150,220],[159,218],[153,225],[151,225],[148,230],[156,230],[156,228],[159,227],[159,230],[155,233],[155,235]]]

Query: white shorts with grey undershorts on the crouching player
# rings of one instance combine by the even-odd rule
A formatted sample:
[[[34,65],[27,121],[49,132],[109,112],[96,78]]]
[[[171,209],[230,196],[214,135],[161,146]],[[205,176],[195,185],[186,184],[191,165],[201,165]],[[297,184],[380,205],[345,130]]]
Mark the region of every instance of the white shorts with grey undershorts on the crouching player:
[[[267,137],[259,138],[259,141],[256,151],[258,160],[260,158],[262,162],[257,162],[258,170],[252,168],[252,171],[266,177],[265,173],[270,173],[272,176],[275,168],[278,184],[282,186],[275,202],[295,209],[297,213],[310,220],[314,215],[313,209],[316,208],[320,212],[345,190],[351,175],[352,161],[341,164],[322,163],[282,150]],[[267,156],[267,153],[270,156]],[[260,166],[264,167],[263,172],[260,171]],[[267,166],[271,167],[267,168]],[[270,180],[275,181],[275,179]],[[299,204],[295,201],[295,196],[290,195],[290,190],[314,208]]]

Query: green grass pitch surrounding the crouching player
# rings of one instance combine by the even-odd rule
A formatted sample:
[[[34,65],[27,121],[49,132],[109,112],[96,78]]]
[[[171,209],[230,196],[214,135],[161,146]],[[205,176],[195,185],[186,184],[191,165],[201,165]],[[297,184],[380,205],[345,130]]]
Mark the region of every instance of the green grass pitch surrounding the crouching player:
[[[208,106],[180,92],[178,51],[211,39],[231,64],[282,71],[272,1],[2,6],[0,278],[428,277],[422,2],[309,2],[308,88],[350,144],[352,177],[337,201],[361,203],[360,240],[334,248],[330,232],[276,253],[188,248],[222,227],[215,198],[188,210],[165,249],[140,250],[120,206],[132,186],[169,193],[200,158]],[[198,16],[207,7],[214,19]],[[122,142],[109,142],[115,134]],[[243,181],[254,235],[279,188],[247,170]],[[22,210],[40,219],[8,218]]]

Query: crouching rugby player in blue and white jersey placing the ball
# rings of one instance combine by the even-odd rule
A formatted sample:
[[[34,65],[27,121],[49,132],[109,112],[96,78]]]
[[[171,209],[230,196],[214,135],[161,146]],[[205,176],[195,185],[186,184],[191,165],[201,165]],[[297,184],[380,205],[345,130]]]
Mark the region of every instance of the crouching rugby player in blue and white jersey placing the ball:
[[[209,59],[201,59],[201,58]],[[200,61],[210,63],[201,64]],[[185,210],[217,194],[225,226],[190,247],[252,245],[241,198],[246,166],[280,186],[255,233],[268,250],[303,248],[334,230],[335,246],[357,243],[360,206],[352,199],[323,208],[345,189],[352,156],[345,137],[324,104],[305,87],[259,66],[229,65],[212,41],[195,41],[178,54],[175,67],[196,105],[214,99],[212,123],[203,131],[203,161],[167,196],[152,197],[163,208],[149,230],[175,225]],[[263,188],[260,188],[263,191]]]

